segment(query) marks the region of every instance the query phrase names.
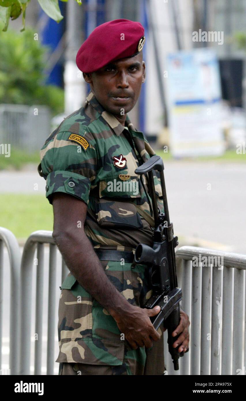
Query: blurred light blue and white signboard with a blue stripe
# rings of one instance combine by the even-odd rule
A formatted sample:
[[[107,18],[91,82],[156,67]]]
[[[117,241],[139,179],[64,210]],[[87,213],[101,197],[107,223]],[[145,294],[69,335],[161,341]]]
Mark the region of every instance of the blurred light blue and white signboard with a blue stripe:
[[[221,87],[218,60],[210,49],[167,57],[167,109],[175,157],[221,155]]]

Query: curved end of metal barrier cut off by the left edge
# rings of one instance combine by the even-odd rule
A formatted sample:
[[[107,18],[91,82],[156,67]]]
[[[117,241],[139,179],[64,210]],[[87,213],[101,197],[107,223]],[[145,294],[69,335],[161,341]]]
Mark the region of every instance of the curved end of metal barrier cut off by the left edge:
[[[2,367],[2,311],[4,284],[4,245],[10,261],[10,334],[9,367],[11,375],[18,374],[20,350],[20,248],[14,234],[0,227],[0,367]]]

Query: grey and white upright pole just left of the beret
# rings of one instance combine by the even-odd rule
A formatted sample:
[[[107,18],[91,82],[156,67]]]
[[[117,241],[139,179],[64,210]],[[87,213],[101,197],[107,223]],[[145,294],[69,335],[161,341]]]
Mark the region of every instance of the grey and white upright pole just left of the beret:
[[[64,87],[65,87],[65,115],[78,110],[85,101],[86,85],[82,72],[76,65],[76,54],[83,43],[82,15],[83,5],[79,6],[75,0],[69,0],[67,7],[67,29],[64,65]]]

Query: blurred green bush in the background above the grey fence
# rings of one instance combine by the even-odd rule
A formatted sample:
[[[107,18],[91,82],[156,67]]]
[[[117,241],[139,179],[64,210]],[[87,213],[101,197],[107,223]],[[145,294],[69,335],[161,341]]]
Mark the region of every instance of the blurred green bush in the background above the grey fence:
[[[64,91],[44,85],[48,47],[34,35],[31,29],[0,33],[0,103],[44,104],[55,115],[63,112]]]

